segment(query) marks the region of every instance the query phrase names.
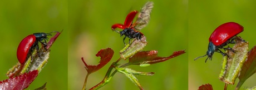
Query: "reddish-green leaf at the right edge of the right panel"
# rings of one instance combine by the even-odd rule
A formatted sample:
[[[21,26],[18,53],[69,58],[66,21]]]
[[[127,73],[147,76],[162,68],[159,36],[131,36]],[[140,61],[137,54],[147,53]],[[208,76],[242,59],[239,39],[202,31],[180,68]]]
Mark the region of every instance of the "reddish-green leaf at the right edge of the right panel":
[[[239,83],[237,88],[240,88],[242,84],[256,72],[256,46],[254,46],[248,52],[247,60],[245,61],[242,70],[239,75]]]

